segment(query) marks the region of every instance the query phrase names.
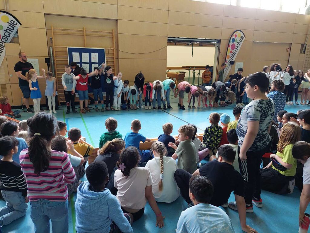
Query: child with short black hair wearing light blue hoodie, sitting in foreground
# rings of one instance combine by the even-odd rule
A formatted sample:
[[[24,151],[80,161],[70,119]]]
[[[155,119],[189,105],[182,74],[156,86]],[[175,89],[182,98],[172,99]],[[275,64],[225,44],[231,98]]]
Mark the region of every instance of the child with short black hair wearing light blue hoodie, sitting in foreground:
[[[77,232],[132,233],[132,215],[123,213],[117,198],[104,188],[109,179],[105,162],[92,162],[86,168],[86,178],[75,201]]]

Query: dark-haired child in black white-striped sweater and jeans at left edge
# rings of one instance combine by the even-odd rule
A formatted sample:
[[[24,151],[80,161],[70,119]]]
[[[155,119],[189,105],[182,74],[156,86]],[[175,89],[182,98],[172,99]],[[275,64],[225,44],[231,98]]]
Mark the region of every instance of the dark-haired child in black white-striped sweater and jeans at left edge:
[[[0,181],[1,194],[7,205],[0,209],[0,225],[7,225],[23,217],[27,211],[27,184],[20,164],[14,162],[13,154],[17,153],[18,141],[12,136],[0,139]]]

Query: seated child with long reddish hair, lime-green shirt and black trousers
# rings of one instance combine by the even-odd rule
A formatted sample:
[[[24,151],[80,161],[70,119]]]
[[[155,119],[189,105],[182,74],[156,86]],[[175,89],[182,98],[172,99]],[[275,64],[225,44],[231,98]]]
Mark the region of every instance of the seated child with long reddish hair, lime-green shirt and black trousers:
[[[260,170],[263,190],[277,194],[293,192],[294,186],[289,186],[289,181],[294,180],[296,174],[296,160],[292,149],[300,140],[300,132],[300,126],[294,122],[287,122],[282,127],[277,153],[271,154],[272,161]],[[254,193],[254,198],[259,200],[260,193]]]

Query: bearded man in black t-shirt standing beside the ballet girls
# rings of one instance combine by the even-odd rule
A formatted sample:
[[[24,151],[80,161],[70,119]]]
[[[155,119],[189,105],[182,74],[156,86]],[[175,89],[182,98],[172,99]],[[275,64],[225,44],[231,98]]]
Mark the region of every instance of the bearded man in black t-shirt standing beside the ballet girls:
[[[24,52],[18,53],[19,62],[17,62],[14,66],[14,71],[18,76],[18,84],[24,95],[24,103],[27,107],[27,112],[33,113],[33,110],[29,107],[29,98],[30,98],[30,89],[29,83],[26,78],[26,73],[33,69],[31,63],[27,62],[27,55]]]

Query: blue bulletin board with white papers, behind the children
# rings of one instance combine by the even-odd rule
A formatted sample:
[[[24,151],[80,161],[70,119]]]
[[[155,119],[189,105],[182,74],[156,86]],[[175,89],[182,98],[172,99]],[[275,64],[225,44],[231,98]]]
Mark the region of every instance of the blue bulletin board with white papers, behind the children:
[[[68,62],[76,62],[81,68],[84,68],[87,73],[94,71],[97,66],[100,69],[102,63],[106,63],[105,49],[104,48],[85,48],[85,47],[67,47],[68,49]],[[90,77],[89,81],[91,81]],[[101,87],[104,87],[104,80],[101,79]],[[92,92],[88,86],[88,92]]]

